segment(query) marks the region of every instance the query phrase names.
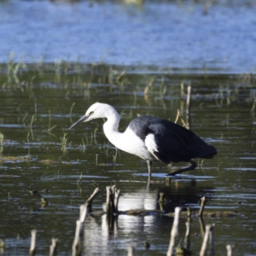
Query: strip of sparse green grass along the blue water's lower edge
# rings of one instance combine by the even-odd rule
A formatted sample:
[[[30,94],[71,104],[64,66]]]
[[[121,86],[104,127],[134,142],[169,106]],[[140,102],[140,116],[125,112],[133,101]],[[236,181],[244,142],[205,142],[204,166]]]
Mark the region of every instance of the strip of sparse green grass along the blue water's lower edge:
[[[255,74],[246,75],[223,75],[214,73],[197,74],[196,78],[180,70],[175,74],[175,83],[172,84],[174,73],[170,68],[161,68],[157,73],[154,67],[136,67],[139,70],[147,70],[147,75],[135,73],[135,67],[111,66],[105,64],[82,64],[79,61],[56,61],[55,63],[14,63],[10,58],[9,64],[0,64],[2,76],[0,84],[2,87],[19,88],[20,90],[33,90],[34,84],[40,84],[42,87],[57,86],[66,89],[68,98],[74,87],[79,88],[84,98],[90,99],[96,93],[99,86],[108,86],[113,94],[131,93],[133,91],[134,99],[137,96],[144,96],[150,103],[152,99],[160,102],[172,102],[176,97],[187,98],[185,90],[191,85],[191,99],[206,100],[214,99],[216,104],[222,106],[224,102],[230,105],[237,100],[241,94],[245,95],[248,101],[254,102],[255,96],[252,96],[253,86],[256,84]],[[150,73],[150,72],[154,73]],[[15,79],[13,78],[15,76]],[[179,79],[179,81],[177,80]],[[191,82],[189,81],[191,79]],[[213,90],[209,95],[196,94],[196,88],[210,84],[215,80],[212,86]],[[55,81],[53,83],[53,81]],[[196,83],[193,83],[196,81]],[[96,85],[97,84],[97,85]],[[177,86],[179,84],[179,86]],[[35,98],[35,119],[37,118],[37,99]],[[255,103],[253,103],[253,106]],[[203,106],[203,105],[201,105]],[[73,112],[74,102],[70,109],[70,119]],[[254,107],[252,107],[254,109]],[[180,109],[183,112],[183,109]],[[53,129],[54,127],[49,127]]]

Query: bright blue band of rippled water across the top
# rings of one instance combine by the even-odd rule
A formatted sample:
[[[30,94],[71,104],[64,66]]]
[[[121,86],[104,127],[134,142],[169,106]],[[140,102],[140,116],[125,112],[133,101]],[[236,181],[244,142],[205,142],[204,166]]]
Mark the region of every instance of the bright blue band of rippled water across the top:
[[[26,62],[255,72],[253,0],[60,2],[1,1],[0,62],[11,53]]]

